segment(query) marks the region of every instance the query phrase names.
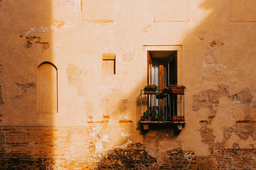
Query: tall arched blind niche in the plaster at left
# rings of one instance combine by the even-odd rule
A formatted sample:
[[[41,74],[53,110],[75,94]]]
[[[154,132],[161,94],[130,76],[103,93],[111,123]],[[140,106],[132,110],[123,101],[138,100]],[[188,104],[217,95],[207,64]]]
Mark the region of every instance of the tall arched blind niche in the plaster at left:
[[[43,62],[37,68],[37,112],[58,112],[57,67]]]

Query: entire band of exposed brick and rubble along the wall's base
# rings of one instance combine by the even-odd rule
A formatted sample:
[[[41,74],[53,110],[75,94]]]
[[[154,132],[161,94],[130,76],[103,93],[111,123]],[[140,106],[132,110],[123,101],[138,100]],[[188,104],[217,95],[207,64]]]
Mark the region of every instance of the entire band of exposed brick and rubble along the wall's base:
[[[209,156],[174,149],[151,157],[144,145],[103,151],[95,149],[90,127],[0,127],[0,170],[172,169],[253,170],[256,149],[215,149]]]

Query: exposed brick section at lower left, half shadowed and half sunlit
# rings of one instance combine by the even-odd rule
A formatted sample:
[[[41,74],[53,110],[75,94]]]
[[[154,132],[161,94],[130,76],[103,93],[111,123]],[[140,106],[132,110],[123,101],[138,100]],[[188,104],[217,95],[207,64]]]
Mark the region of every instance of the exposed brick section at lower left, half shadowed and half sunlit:
[[[90,127],[0,127],[0,169],[92,169]],[[92,146],[92,147],[90,147]]]

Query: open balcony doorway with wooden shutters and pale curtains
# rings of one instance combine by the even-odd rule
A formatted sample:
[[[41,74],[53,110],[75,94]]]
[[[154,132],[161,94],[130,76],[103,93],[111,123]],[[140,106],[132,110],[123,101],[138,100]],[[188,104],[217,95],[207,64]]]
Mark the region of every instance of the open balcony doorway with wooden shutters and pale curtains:
[[[177,84],[177,51],[148,51],[148,84],[156,84],[159,90],[168,83]],[[148,101],[149,108],[163,115],[164,119],[172,119],[179,114],[177,95],[169,95],[167,98],[158,99],[155,95]],[[178,103],[177,103],[178,102]],[[168,114],[167,114],[168,113]]]

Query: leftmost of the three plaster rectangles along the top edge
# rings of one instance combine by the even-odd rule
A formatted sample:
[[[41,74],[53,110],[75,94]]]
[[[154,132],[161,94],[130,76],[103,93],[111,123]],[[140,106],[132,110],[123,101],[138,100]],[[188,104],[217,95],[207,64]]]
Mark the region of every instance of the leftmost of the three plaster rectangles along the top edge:
[[[82,0],[83,20],[112,20],[113,0]]]

